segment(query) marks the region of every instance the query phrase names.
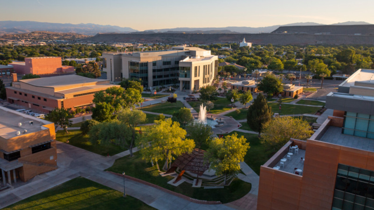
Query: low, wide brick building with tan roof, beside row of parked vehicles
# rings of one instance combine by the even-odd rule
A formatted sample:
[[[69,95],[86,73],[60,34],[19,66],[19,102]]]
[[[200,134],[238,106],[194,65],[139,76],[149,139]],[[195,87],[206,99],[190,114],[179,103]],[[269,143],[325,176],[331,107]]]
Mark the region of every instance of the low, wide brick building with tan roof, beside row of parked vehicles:
[[[79,75],[63,75],[17,81],[13,74],[13,86],[6,87],[7,101],[49,113],[55,108],[85,107],[92,105],[93,95],[108,87],[109,80],[92,79]]]

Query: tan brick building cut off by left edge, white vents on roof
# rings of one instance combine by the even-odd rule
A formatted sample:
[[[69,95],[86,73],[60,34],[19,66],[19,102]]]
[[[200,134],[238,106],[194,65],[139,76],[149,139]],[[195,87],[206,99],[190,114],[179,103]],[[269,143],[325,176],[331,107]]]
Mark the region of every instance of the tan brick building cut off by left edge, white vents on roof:
[[[0,188],[57,168],[55,125],[0,106]]]

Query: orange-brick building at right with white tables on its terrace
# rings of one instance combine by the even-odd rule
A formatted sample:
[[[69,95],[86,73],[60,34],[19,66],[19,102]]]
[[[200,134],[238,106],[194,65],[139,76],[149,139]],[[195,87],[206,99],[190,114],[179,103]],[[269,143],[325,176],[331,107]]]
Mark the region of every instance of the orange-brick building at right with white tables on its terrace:
[[[257,209],[374,210],[374,70],[327,95],[333,115],[291,139],[260,169]]]

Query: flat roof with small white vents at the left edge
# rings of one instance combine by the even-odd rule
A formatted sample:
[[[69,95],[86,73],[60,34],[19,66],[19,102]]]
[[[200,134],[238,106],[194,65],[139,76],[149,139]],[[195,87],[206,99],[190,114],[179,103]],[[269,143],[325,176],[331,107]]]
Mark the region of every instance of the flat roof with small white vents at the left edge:
[[[30,115],[22,114],[3,106],[0,106],[0,116],[0,136],[5,139],[45,130],[47,128],[42,126],[45,124],[51,124],[49,121],[31,117]],[[33,125],[30,124],[30,121],[33,121]],[[22,125],[19,126],[19,123]],[[22,133],[24,130],[27,130],[27,132]],[[17,131],[21,134],[16,135]]]

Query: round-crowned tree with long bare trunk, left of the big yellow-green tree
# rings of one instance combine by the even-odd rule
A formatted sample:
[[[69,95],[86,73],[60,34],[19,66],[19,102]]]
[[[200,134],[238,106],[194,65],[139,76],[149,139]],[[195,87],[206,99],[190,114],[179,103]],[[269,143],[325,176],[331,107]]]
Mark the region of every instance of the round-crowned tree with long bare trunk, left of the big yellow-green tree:
[[[131,130],[131,140],[128,140],[128,148],[130,151],[130,157],[132,157],[132,147],[134,146],[135,142],[135,127],[147,121],[147,115],[138,109],[131,110],[126,108],[119,113],[118,120],[121,123],[126,124]]]

